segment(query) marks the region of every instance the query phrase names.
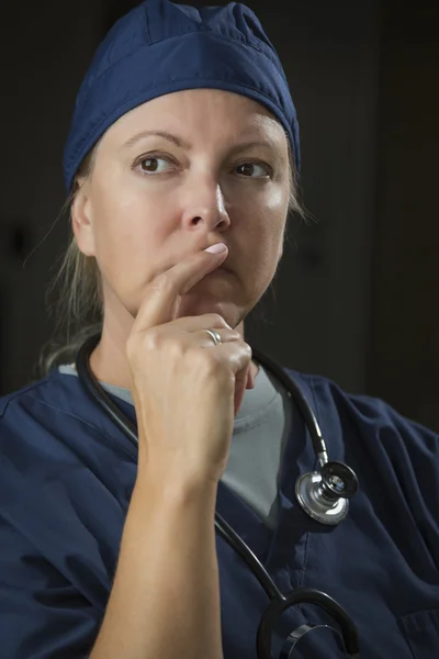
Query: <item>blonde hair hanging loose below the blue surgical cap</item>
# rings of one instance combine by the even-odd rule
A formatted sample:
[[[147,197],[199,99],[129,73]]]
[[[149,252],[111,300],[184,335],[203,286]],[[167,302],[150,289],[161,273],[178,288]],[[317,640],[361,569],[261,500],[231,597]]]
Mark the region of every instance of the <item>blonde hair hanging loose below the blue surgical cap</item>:
[[[99,144],[100,141],[83,158],[76,174],[71,192],[61,211],[61,213],[69,212],[70,242],[58,272],[48,289],[48,295],[56,289],[58,295],[56,303],[49,308],[49,312],[55,311],[56,315],[55,338],[44,346],[40,358],[38,370],[43,376],[60,364],[75,361],[82,343],[89,336],[102,331],[103,298],[98,263],[94,257],[85,256],[79,250],[71,228],[71,206],[80,190],[79,181],[86,181],[91,177]],[[305,211],[297,198],[297,176],[289,138],[288,144],[290,161],[289,213],[299,214],[306,220]]]

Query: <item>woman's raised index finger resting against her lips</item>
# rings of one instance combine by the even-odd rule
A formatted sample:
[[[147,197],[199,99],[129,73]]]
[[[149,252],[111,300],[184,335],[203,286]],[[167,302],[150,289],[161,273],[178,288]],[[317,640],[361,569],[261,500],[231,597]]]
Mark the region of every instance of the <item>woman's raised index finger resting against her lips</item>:
[[[222,252],[215,254],[204,249],[191,254],[153,279],[135,320],[137,330],[147,330],[175,320],[179,298],[224,263],[228,255],[227,246],[217,243],[212,247],[217,248],[219,245],[224,245]]]

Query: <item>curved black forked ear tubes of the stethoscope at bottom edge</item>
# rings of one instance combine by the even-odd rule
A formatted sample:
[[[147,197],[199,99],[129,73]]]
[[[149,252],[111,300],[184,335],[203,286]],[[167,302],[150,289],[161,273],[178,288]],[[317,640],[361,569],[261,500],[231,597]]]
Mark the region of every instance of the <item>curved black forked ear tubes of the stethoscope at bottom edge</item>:
[[[345,608],[338,604],[333,597],[323,593],[322,591],[311,589],[311,588],[299,588],[292,593],[288,595],[288,597],[282,597],[282,600],[273,600],[268,605],[264,614],[262,615],[261,622],[258,628],[257,635],[257,652],[258,659],[274,659],[271,651],[272,644],[272,630],[275,628],[275,622],[282,615],[284,611],[291,608],[296,604],[316,604],[324,608],[327,613],[334,617],[336,623],[340,627],[340,632],[330,627],[329,625],[306,625],[302,626],[302,628],[295,629],[289,637],[289,650],[283,649],[282,657],[289,658],[291,656],[291,651],[293,650],[296,643],[307,633],[313,629],[320,627],[329,627],[336,634],[341,637],[341,640],[345,645],[346,652],[353,657],[354,659],[359,658],[359,643],[358,643],[358,634],[354,624],[350,619],[349,615],[345,611]],[[281,659],[282,659],[281,657]]]

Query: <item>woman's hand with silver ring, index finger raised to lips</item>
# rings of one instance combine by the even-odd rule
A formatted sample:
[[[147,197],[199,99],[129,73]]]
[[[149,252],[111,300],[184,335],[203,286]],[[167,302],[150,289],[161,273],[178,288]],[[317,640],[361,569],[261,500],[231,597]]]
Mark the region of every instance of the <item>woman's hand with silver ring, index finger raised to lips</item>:
[[[222,265],[200,252],[149,284],[126,344],[137,413],[139,462],[195,481],[223,476],[233,422],[250,377],[251,348],[218,314],[181,317],[181,295]],[[214,328],[215,346],[203,330]]]

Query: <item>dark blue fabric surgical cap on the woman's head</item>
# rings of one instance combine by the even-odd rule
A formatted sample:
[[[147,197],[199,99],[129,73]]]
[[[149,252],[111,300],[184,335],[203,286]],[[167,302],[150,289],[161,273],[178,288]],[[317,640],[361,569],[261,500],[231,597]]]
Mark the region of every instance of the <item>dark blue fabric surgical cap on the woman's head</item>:
[[[69,193],[81,160],[117,119],[183,89],[223,89],[258,101],[281,122],[300,171],[299,124],[279,56],[245,4],[195,9],[144,0],[98,47],[80,87],[64,153]]]

